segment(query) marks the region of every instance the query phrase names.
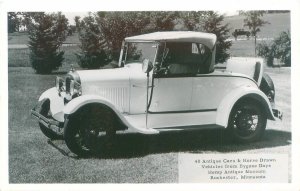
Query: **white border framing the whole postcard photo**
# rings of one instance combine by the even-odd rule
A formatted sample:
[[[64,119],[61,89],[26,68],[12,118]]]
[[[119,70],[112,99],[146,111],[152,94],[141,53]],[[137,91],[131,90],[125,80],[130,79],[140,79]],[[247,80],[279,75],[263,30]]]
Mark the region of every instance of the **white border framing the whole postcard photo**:
[[[251,3],[249,3],[251,2]],[[0,190],[300,190],[300,1],[298,0],[3,0],[0,1]],[[7,12],[9,11],[291,10],[292,183],[286,184],[9,184]]]

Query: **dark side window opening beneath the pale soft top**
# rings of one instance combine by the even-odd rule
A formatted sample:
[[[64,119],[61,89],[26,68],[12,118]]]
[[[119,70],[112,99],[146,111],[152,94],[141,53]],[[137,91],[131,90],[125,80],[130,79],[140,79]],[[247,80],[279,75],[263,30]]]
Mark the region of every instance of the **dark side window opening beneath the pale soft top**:
[[[158,62],[166,76],[195,76],[209,71],[211,51],[203,44],[167,42],[160,50]]]

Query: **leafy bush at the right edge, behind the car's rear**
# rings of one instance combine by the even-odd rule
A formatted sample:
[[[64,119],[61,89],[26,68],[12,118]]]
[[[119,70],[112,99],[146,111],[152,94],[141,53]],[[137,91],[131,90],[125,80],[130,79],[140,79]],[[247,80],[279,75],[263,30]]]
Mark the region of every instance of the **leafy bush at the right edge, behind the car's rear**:
[[[289,32],[281,32],[271,44],[258,44],[258,55],[266,59],[268,66],[274,66],[274,58],[279,59],[285,66],[291,66],[291,36]]]

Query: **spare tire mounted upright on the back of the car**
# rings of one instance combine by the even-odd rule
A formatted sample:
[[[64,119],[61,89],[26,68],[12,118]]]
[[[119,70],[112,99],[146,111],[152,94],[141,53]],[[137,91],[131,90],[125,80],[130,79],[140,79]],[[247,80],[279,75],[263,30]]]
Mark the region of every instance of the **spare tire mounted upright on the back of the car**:
[[[275,86],[273,80],[268,74],[263,74],[259,89],[266,94],[270,102],[275,101]]]

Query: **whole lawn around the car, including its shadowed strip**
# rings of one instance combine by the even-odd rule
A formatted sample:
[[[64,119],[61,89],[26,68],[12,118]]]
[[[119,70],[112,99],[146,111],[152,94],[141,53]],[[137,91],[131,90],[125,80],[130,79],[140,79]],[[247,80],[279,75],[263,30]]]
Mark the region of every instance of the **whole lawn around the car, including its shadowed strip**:
[[[289,153],[290,69],[268,69],[283,108],[282,123],[268,122],[262,141],[231,144],[223,131],[119,135],[111,155],[76,159],[47,143],[30,109],[43,91],[54,85],[52,75],[37,75],[30,67],[9,67],[9,181],[10,183],[170,183],[178,181],[179,153]],[[59,73],[60,74],[60,73]],[[69,152],[63,141],[54,145]],[[105,153],[105,151],[103,151]],[[70,154],[72,156],[72,154]]]

